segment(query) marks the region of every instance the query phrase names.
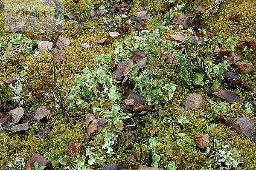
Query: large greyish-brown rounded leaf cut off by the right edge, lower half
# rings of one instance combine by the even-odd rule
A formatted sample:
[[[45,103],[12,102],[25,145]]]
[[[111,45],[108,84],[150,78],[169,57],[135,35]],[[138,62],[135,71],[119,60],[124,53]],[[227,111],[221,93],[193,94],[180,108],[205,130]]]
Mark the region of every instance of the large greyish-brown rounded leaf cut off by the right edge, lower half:
[[[236,124],[240,125],[240,130],[244,136],[252,137],[256,133],[255,121],[247,116],[239,117]]]

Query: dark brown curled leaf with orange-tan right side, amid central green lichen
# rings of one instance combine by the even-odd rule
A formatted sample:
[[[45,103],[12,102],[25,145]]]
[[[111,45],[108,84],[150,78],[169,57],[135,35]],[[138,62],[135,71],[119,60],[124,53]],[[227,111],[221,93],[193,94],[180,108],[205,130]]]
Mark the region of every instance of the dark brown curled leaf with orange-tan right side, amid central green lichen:
[[[113,70],[113,77],[117,80],[122,80],[123,76],[128,75],[133,68],[133,60],[129,59],[115,65]]]

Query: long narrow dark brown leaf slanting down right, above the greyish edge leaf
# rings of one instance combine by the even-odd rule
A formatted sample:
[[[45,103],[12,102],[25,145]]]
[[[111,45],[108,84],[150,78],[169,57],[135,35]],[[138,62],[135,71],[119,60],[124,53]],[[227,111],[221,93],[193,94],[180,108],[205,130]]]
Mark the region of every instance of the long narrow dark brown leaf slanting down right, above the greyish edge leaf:
[[[243,104],[243,100],[239,98],[236,94],[234,94],[232,91],[227,91],[224,88],[218,88],[217,92],[214,92],[216,96],[220,97],[221,99],[227,100],[230,103],[237,102],[240,104]]]

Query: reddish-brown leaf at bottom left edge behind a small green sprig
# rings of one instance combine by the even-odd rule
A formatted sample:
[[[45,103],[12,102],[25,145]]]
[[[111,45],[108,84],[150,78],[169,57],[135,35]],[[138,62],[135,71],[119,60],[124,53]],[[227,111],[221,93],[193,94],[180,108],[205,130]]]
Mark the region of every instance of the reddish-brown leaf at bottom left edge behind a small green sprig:
[[[50,161],[44,158],[44,156],[39,155],[38,153],[35,153],[29,158],[26,163],[26,170],[32,170],[32,167],[35,166],[35,162],[38,162],[38,167],[46,166],[45,169],[54,170],[52,165],[50,165]]]

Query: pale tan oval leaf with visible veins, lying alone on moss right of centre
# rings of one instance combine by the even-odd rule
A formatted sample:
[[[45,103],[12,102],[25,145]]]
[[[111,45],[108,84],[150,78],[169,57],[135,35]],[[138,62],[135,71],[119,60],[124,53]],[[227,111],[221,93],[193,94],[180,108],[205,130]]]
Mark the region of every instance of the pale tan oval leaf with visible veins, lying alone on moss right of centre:
[[[204,103],[205,98],[200,94],[190,94],[183,102],[183,104],[189,108],[200,108],[201,105]]]

